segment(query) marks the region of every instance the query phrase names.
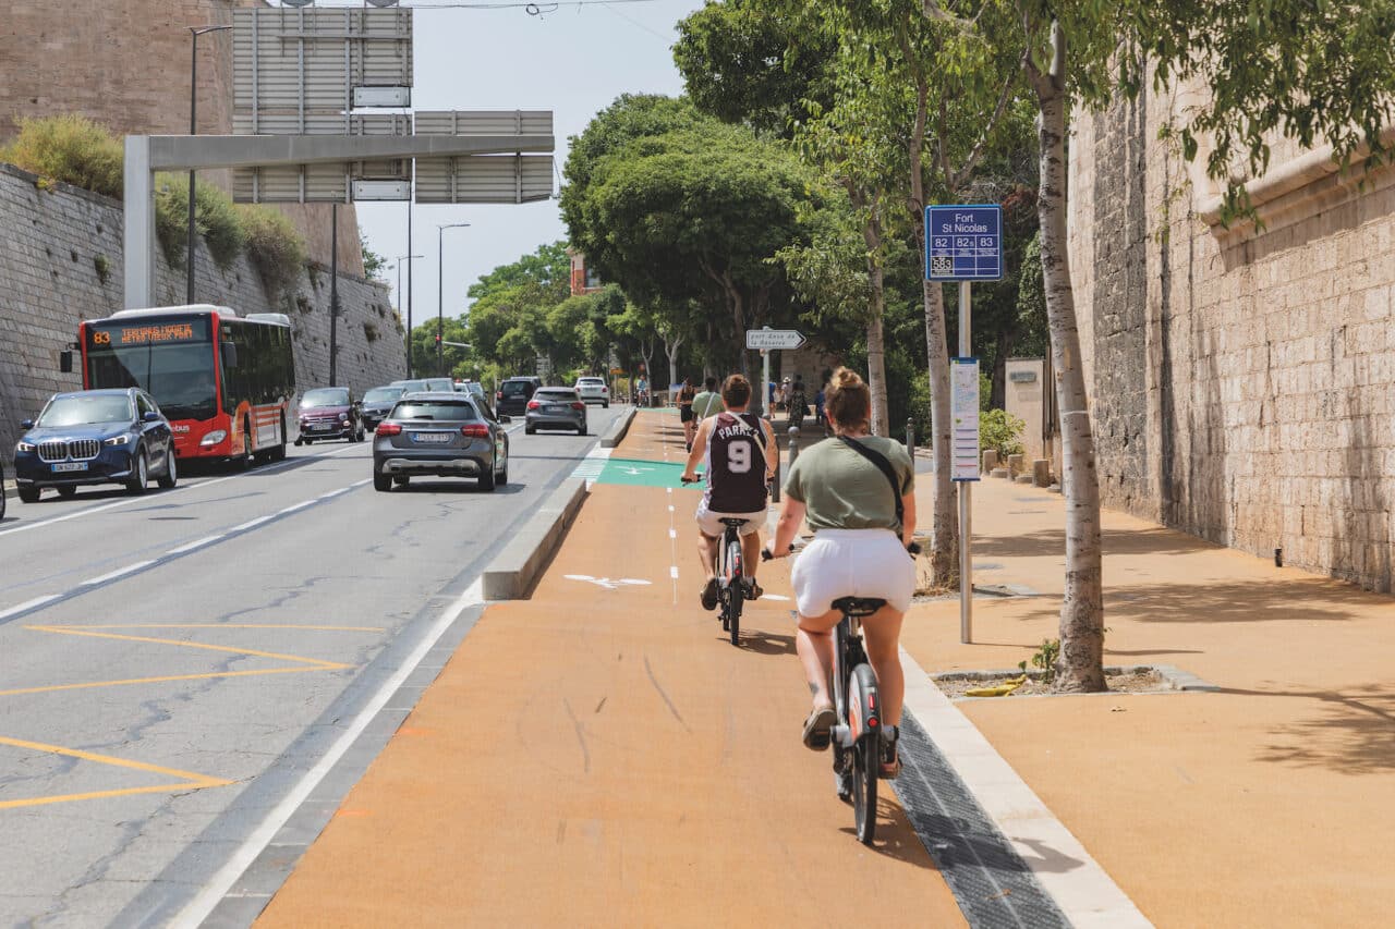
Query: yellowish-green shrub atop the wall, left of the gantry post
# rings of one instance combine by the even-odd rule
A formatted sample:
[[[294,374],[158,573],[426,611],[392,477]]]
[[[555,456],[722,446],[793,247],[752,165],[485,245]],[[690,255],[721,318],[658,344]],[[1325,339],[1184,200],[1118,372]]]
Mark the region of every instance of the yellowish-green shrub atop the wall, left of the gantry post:
[[[106,197],[121,195],[121,141],[77,113],[20,120],[20,134],[0,149],[10,162],[47,181],[63,181]],[[50,188],[52,184],[40,184]]]

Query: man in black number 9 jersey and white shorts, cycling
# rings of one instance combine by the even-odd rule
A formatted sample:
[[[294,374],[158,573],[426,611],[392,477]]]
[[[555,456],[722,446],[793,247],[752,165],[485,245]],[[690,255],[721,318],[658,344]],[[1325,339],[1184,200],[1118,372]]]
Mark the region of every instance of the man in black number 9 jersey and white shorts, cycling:
[[[732,374],[721,385],[725,410],[698,427],[684,480],[698,480],[698,463],[707,463],[707,490],[698,504],[698,552],[702,558],[702,608],[717,607],[717,547],[723,519],[745,519],[741,527],[742,562],[751,598],[760,597],[756,565],[760,564],[760,527],[766,522],[767,484],[776,473],[776,435],[766,420],[748,413],[751,382]],[[769,453],[767,453],[769,449]]]

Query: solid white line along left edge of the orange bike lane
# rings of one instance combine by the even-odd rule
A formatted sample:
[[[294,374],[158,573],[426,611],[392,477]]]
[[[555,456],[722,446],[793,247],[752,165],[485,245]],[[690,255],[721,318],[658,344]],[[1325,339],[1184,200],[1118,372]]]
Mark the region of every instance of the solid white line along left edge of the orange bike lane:
[[[378,710],[388,704],[388,699],[396,693],[398,688],[402,686],[403,681],[407,679],[421,660],[425,658],[427,653],[435,647],[435,643],[445,635],[445,630],[460,617],[462,612],[470,607],[484,603],[484,586],[483,582],[476,580],[470,584],[460,597],[456,598],[449,607],[446,607],[439,618],[437,618],[435,625],[427,630],[427,635],[421,639],[407,660],[402,663],[402,667],[388,678],[378,692],[372,696],[367,706],[353,718],[349,728],[345,730],[335,743],[325,752],[324,757],[296,783],[296,785],[286,794],[285,798],[266,815],[266,819],[247,837],[232,858],[218,869],[218,873],[204,884],[204,889],[198,893],[194,900],[190,901],[187,907],[177,916],[174,916],[172,926],[180,929],[195,929],[208,914],[213,912],[213,908],[223,898],[232,886],[241,877],[247,866],[251,865],[257,856],[262,852],[271,840],[276,837],[280,827],[286,824],[294,812],[306,802],[306,798],[319,785],[325,776],[333,770],[339,759],[345,756],[345,752],[357,741],[372,718],[378,714]]]

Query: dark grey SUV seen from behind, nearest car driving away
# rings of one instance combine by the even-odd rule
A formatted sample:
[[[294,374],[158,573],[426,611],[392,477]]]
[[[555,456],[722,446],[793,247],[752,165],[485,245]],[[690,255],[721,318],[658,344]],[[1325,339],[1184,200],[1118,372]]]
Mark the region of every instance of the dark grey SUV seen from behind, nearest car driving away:
[[[480,490],[509,483],[509,437],[490,407],[469,393],[407,393],[378,424],[372,487],[388,491],[413,477],[474,477]]]

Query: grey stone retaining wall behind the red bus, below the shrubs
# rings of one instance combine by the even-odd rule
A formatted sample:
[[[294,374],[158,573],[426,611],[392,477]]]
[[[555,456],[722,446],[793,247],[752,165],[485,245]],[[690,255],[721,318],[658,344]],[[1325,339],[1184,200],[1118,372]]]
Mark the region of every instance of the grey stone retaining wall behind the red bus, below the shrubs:
[[[59,372],[59,353],[78,322],[121,308],[121,205],[67,186],[43,191],[32,174],[0,165],[0,455],[18,421],[81,375]],[[272,299],[246,257],[219,269],[202,243],[195,264],[199,303],[239,314],[286,312],[296,347],[296,384],[329,381],[329,273],[301,275],[294,293]],[[184,272],[156,264],[160,305],[184,303]],[[406,377],[402,333],[386,285],[339,276],[339,382],[364,391]]]

